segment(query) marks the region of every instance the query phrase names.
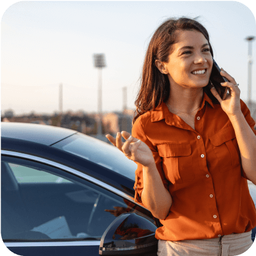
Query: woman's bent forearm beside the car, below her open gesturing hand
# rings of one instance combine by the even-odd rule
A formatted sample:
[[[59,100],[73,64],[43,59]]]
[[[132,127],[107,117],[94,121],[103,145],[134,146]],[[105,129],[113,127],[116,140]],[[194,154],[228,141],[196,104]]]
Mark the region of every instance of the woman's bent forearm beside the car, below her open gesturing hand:
[[[173,203],[169,191],[163,185],[155,161],[148,166],[143,166],[142,203],[153,216],[160,220],[168,216]]]

